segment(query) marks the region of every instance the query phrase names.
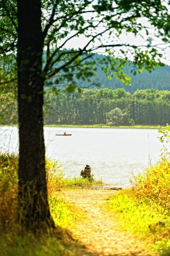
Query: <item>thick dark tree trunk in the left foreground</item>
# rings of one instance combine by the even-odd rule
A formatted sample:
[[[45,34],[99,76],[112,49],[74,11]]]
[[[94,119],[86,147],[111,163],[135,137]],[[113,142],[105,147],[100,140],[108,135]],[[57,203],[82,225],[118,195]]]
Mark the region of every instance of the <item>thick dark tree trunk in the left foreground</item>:
[[[50,217],[43,135],[41,0],[18,0],[18,112],[20,221],[37,229]]]

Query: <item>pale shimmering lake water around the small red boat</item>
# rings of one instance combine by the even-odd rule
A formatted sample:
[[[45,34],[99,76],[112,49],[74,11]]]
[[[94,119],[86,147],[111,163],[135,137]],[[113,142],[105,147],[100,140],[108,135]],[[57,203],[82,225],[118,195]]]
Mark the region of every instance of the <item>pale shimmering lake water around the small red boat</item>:
[[[64,131],[72,136],[55,135]],[[46,155],[62,164],[65,176],[79,176],[88,164],[95,178],[118,187],[156,163],[162,147],[156,129],[45,127],[44,135]],[[17,127],[0,127],[0,150],[18,151]]]

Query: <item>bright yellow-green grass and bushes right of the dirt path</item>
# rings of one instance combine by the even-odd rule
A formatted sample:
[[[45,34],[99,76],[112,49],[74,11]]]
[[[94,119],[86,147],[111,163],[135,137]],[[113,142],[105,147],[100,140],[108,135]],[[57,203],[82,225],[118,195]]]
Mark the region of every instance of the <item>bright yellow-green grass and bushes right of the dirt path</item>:
[[[139,175],[132,188],[109,198],[122,228],[147,238],[160,255],[170,255],[170,162],[162,159]]]

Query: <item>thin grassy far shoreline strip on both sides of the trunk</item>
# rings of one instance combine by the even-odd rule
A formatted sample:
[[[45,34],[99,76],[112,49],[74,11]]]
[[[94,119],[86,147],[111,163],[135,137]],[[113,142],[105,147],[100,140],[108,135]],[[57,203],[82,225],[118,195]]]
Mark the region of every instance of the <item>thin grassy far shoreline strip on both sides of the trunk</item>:
[[[6,125],[0,125],[1,126],[17,126],[17,124],[6,124]],[[73,127],[73,128],[120,128],[120,129],[160,129],[166,128],[166,126],[160,126],[160,125],[119,125],[119,126],[113,126],[113,125],[105,125],[105,124],[45,124],[44,127]]]

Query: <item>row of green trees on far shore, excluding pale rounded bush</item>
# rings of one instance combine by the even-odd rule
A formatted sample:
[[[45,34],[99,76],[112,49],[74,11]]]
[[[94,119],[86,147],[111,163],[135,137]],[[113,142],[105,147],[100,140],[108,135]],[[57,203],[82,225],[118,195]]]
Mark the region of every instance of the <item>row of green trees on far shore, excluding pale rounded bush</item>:
[[[82,93],[46,91],[51,113],[45,113],[46,124],[106,124],[107,113],[119,108],[128,120],[140,125],[170,123],[170,91],[137,90],[133,94],[122,89],[83,89]],[[132,122],[133,123],[133,122]]]

